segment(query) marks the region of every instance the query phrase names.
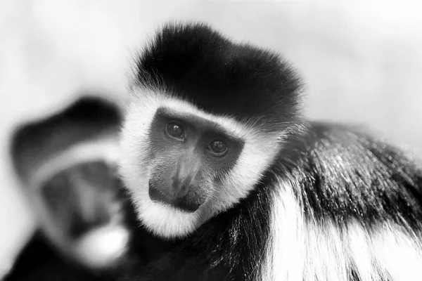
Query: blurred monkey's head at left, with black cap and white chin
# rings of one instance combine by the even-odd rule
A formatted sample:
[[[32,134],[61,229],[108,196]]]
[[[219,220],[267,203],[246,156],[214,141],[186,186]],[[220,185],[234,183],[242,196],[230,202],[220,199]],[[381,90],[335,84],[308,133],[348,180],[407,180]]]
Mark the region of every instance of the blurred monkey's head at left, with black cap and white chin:
[[[75,263],[78,270],[108,270],[127,251],[130,233],[116,174],[119,126],[120,113],[113,105],[86,97],[63,112],[21,126],[13,136],[13,164],[40,231],[58,259]],[[34,255],[39,259],[42,254]],[[56,279],[54,267],[45,273],[37,268],[39,279]],[[23,271],[30,270],[24,266]]]

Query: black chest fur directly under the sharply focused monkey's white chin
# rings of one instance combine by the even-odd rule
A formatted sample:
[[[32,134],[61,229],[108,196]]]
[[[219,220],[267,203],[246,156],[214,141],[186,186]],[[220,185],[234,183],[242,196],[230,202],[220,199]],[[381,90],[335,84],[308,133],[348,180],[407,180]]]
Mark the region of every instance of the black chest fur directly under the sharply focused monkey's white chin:
[[[137,262],[119,280],[255,280],[269,237],[270,187],[258,186],[184,240],[160,240],[140,226],[132,247]]]

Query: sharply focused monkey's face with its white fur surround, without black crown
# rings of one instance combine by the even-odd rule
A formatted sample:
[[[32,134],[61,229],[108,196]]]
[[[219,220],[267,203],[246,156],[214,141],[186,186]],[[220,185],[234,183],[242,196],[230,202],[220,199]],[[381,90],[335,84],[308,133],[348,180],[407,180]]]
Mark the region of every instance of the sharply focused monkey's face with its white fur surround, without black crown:
[[[138,89],[121,133],[120,173],[148,230],[184,237],[246,197],[279,150],[279,133]]]

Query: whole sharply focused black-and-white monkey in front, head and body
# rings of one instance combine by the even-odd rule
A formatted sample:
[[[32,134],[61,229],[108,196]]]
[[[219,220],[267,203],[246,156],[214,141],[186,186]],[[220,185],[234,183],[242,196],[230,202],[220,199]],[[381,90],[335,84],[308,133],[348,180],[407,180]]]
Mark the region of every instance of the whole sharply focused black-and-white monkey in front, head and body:
[[[122,280],[422,280],[420,166],[308,122],[301,89],[279,54],[209,25],[155,35],[136,59],[120,173],[165,247],[135,249]]]

